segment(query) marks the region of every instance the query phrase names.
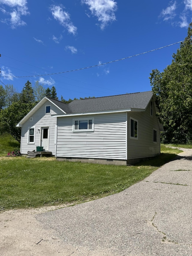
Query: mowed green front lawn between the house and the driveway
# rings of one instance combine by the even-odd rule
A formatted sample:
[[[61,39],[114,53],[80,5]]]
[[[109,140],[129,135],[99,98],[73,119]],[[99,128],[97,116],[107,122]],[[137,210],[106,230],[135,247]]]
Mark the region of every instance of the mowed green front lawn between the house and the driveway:
[[[135,166],[60,162],[55,158],[2,157],[0,210],[80,203],[114,194],[149,176],[175,153]]]

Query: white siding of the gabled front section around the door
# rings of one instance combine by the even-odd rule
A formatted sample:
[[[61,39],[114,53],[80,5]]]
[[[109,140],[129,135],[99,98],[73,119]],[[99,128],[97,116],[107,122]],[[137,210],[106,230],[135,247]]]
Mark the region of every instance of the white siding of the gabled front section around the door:
[[[45,113],[45,107],[51,106],[51,113]],[[52,117],[57,114],[63,114],[54,104],[49,101],[45,102],[32,116],[33,120],[29,119],[23,124],[21,132],[21,154],[27,154],[28,151],[36,150],[37,146],[41,145],[41,127],[49,127],[49,151],[55,155],[55,130],[57,125],[57,117]],[[29,128],[35,128],[35,143],[28,143]],[[38,131],[38,129],[40,131]]]

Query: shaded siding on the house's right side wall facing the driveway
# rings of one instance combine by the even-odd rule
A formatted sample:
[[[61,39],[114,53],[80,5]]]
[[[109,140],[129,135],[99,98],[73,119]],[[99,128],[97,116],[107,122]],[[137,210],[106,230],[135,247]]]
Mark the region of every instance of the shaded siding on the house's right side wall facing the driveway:
[[[128,112],[128,156],[127,159],[146,158],[160,153],[160,129],[155,106],[151,116],[150,102],[143,112]],[[138,120],[138,139],[130,138],[130,117]],[[153,129],[157,130],[157,143],[153,142]]]

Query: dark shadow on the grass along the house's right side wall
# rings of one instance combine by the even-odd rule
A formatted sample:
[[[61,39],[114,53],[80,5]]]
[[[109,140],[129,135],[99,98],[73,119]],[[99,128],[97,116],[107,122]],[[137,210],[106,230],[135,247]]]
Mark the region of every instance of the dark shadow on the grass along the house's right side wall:
[[[140,162],[136,164],[136,166],[154,166],[154,167],[161,167],[162,165],[176,160],[176,158],[182,158],[176,154],[169,154],[169,153],[161,153],[159,156],[156,156],[150,160]]]

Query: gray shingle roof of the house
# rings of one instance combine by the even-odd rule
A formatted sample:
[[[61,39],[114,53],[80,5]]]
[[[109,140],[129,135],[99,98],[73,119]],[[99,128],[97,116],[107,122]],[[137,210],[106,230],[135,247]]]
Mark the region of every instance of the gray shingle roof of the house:
[[[152,91],[114,95],[99,98],[75,100],[69,104],[50,100],[65,113],[88,113],[107,110],[123,110],[129,108],[145,109],[153,96]]]

